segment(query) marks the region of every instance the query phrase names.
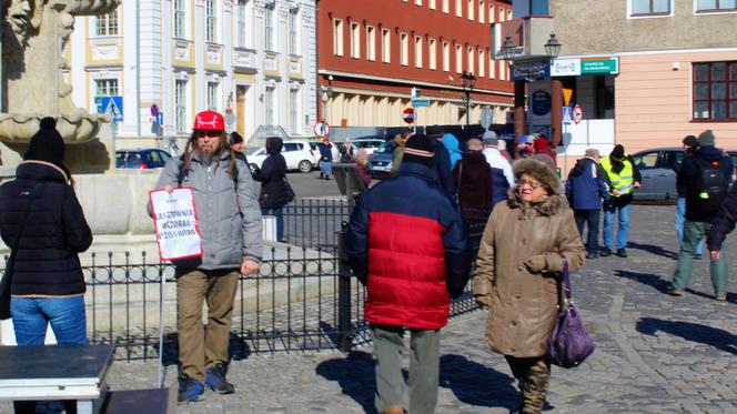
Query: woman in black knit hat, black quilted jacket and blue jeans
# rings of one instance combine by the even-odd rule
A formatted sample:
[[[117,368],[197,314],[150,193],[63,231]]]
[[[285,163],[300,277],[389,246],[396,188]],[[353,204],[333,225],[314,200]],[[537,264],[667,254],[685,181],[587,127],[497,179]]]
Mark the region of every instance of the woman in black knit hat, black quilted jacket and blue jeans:
[[[87,345],[84,277],[78,253],[92,232],[63,163],[64,141],[44,118],[16,180],[0,186],[0,235],[16,250],[10,314],[18,345],[43,345],[50,323],[60,345]],[[17,402],[34,412],[36,402]]]

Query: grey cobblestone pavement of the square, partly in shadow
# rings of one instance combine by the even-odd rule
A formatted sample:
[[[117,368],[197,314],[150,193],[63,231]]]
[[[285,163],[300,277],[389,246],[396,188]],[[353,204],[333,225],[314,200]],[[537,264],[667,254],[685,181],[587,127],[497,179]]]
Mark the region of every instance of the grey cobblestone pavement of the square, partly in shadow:
[[[737,413],[737,294],[713,300],[708,261],[696,262],[683,297],[664,292],[676,265],[673,206],[633,209],[629,258],[588,261],[573,276],[574,299],[597,349],[582,366],[553,368],[551,413]],[[727,260],[737,246],[727,243]],[[735,255],[737,258],[737,255]],[[737,270],[733,259],[730,271]],[[730,292],[735,292],[733,281]],[[516,383],[483,345],[483,312],[443,330],[436,413],[506,413]],[[117,362],[113,390],[153,387],[155,361]],[[181,413],[374,413],[371,349],[245,354],[231,364],[233,395],[206,392]],[[174,365],[166,383],[175,384]],[[2,405],[3,412],[9,405]]]

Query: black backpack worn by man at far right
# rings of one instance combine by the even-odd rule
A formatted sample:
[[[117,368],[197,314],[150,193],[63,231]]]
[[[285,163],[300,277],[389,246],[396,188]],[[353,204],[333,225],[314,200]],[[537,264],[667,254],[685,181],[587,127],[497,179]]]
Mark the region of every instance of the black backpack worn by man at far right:
[[[693,199],[703,212],[716,213],[727,198],[729,178],[720,169],[724,160],[721,158],[718,161],[708,161],[700,156],[694,156],[698,174],[693,190]]]

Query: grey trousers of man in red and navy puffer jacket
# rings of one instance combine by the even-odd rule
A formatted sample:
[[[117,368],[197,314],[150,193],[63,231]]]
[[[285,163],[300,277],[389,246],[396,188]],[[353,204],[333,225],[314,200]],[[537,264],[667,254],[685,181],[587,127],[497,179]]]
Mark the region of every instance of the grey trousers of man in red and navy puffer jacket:
[[[376,355],[375,406],[380,413],[402,406],[411,414],[432,414],[437,404],[441,332],[411,329],[410,383],[402,375],[402,326],[371,325]],[[407,392],[408,388],[408,392]],[[408,395],[407,395],[408,394]]]

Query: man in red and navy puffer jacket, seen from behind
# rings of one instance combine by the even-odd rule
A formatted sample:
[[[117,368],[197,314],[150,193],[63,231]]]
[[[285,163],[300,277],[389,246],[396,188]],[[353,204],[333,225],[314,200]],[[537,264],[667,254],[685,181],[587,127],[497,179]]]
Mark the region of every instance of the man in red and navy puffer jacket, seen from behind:
[[[435,410],[440,330],[447,324],[450,297],[468,281],[464,221],[437,183],[433,148],[428,138],[410,138],[397,174],[363,194],[347,229],[351,267],[367,290],[364,316],[374,337],[380,413]],[[406,329],[408,398],[401,367]]]

